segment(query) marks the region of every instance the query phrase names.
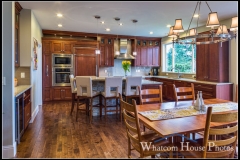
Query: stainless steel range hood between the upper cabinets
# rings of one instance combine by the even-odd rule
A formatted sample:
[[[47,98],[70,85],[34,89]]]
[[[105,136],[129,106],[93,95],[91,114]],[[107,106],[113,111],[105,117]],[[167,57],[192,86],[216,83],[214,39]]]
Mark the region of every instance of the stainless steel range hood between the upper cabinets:
[[[132,56],[130,53],[128,53],[127,50],[127,39],[120,39],[120,54],[115,55],[115,59],[135,59],[134,56]]]

